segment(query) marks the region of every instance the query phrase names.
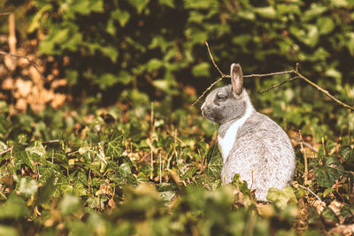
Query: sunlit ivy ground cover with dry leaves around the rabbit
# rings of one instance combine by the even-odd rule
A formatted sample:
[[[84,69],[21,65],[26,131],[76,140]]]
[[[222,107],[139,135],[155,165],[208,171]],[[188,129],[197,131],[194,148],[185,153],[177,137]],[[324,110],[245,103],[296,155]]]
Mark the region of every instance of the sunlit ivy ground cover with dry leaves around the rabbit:
[[[297,137],[295,181],[262,203],[237,175],[220,185],[217,127],[194,107],[97,109],[88,101],[76,110],[10,116],[6,103],[1,110],[2,235],[352,232],[350,133],[319,143],[290,133]]]

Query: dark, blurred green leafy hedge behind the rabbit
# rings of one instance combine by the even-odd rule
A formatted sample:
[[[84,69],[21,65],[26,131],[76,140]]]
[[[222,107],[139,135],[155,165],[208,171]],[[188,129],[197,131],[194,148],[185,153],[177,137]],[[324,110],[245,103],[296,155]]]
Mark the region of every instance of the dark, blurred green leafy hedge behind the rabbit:
[[[19,44],[35,40],[44,75],[64,78],[59,91],[73,101],[191,103],[218,78],[207,41],[222,72],[234,62],[245,74],[289,70],[299,62],[305,76],[354,102],[351,0],[35,0],[3,1],[2,8],[16,14]],[[270,108],[289,126],[319,136],[348,128],[347,111],[303,81],[258,93],[289,76],[250,78],[245,87],[256,107]],[[320,128],[324,121],[330,130]]]

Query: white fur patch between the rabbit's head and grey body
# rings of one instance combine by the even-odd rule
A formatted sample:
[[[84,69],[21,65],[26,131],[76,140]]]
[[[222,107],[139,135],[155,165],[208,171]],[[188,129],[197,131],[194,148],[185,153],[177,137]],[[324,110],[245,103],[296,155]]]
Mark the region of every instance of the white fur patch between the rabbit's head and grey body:
[[[237,119],[231,126],[228,127],[227,133],[225,133],[223,138],[221,138],[218,135],[218,144],[221,150],[223,163],[226,162],[227,156],[234,146],[238,129],[244,124],[246,119],[250,117],[252,111],[253,111],[252,105],[250,103],[247,104],[247,110],[244,116],[242,118]]]

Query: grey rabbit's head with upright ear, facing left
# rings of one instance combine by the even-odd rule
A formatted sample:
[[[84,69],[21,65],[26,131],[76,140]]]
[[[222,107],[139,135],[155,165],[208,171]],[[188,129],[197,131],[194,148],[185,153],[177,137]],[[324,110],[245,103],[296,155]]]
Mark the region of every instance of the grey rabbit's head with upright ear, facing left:
[[[233,64],[230,70],[231,84],[216,88],[205,99],[202,115],[219,125],[242,118],[250,104],[247,92],[242,88],[243,73],[241,65]]]

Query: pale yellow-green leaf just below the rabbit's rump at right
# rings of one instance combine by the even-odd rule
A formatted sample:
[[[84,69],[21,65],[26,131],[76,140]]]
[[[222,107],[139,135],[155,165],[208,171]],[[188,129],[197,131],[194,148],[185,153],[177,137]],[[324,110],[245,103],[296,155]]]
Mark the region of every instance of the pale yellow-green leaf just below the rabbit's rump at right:
[[[285,209],[290,200],[296,201],[296,195],[292,187],[284,187],[281,190],[271,187],[268,190],[266,199],[274,202],[278,208]]]

